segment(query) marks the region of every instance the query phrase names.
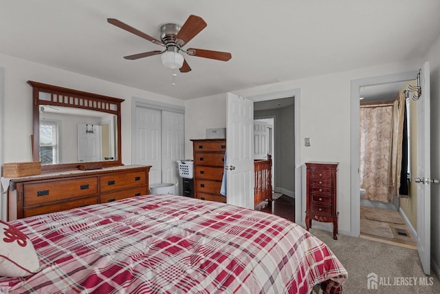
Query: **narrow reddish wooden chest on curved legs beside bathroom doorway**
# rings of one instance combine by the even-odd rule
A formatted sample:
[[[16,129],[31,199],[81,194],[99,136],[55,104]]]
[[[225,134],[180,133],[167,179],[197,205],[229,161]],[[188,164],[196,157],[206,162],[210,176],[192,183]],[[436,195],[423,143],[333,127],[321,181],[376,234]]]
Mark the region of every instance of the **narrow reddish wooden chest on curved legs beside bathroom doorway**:
[[[311,220],[333,222],[333,239],[338,240],[337,171],[338,162],[306,162],[307,167],[307,231]]]

